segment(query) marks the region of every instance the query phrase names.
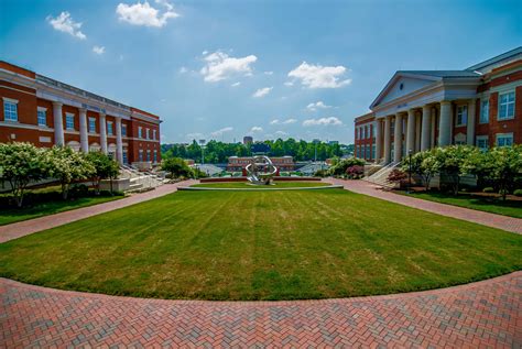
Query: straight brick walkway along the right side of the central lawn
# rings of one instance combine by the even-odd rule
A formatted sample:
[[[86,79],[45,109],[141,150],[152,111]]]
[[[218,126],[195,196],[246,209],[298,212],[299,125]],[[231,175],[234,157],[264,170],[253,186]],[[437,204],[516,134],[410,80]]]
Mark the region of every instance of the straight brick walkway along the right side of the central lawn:
[[[502,230],[522,233],[522,219],[478,211],[475,209],[445,205],[415,197],[394,194],[392,192],[382,190],[382,187],[365,181],[344,181],[336,178],[327,178],[326,182],[344,185],[345,189],[354,193],[373,196],[388,201],[418,208],[425,211],[458,218],[467,221],[477,222],[479,225],[499,228]]]

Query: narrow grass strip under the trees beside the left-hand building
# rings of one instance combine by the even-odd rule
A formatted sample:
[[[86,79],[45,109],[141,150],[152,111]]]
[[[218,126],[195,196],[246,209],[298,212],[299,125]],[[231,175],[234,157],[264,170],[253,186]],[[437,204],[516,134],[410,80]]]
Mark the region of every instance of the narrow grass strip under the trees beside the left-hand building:
[[[34,206],[25,206],[23,208],[17,207],[0,207],[0,226],[22,221],[26,219],[37,218],[42,216],[53,215],[57,212],[67,211],[80,207],[93,206],[101,203],[112,201],[122,198],[123,196],[88,196],[80,197],[73,200],[63,200],[61,195],[56,195],[53,199],[39,203]],[[25,199],[28,201],[29,199]]]

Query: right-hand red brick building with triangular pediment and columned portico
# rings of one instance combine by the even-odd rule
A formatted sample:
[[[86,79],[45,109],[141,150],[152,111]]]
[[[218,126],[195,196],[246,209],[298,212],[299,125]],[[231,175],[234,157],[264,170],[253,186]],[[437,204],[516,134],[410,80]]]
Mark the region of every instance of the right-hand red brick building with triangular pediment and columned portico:
[[[522,47],[464,70],[400,70],[355,119],[356,156],[398,163],[434,146],[522,143]]]

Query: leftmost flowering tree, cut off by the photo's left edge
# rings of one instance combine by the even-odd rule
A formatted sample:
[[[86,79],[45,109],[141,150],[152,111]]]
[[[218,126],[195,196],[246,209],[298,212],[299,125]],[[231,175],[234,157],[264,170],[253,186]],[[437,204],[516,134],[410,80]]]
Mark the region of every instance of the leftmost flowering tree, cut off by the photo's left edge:
[[[31,182],[48,175],[45,151],[31,143],[0,143],[0,178],[8,182],[18,207]]]

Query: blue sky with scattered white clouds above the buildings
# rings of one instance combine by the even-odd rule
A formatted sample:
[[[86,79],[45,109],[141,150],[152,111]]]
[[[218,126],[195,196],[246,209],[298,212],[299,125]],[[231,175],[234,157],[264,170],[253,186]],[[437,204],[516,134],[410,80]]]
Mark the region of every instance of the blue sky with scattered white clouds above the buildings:
[[[157,113],[163,142],[352,142],[398,69],[522,42],[522,1],[0,0],[0,58]]]

